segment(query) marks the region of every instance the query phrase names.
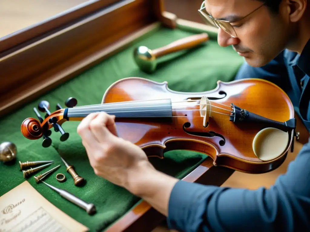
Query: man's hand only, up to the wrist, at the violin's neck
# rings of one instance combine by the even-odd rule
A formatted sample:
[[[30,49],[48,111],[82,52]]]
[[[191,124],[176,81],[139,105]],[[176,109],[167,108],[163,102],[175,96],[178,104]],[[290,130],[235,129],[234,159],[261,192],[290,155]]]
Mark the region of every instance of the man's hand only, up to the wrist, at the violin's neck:
[[[153,166],[141,148],[117,137],[114,119],[115,116],[106,113],[89,114],[77,132],[95,174],[129,188],[131,176]]]

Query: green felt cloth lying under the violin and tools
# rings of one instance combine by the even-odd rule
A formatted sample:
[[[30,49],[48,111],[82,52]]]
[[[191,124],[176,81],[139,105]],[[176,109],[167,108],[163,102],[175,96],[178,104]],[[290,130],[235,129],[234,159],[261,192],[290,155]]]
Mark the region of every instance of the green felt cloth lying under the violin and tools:
[[[36,107],[41,100],[50,102],[52,112],[56,110],[57,103],[64,107],[64,101],[68,97],[77,98],[78,106],[98,104],[101,102],[105,90],[121,78],[136,76],[158,82],[168,81],[168,86],[172,90],[185,92],[211,90],[216,87],[217,80],[232,80],[243,59],[231,47],[220,47],[216,39],[208,41],[206,45],[197,49],[164,57],[161,60],[161,62],[165,62],[164,65],[160,65],[153,74],[139,71],[132,59],[132,52],[136,46],[145,45],[153,49],[192,34],[193,32],[183,30],[172,31],[167,28],[159,28],[127,49],[53,89],[36,101],[30,102],[22,109],[1,118],[0,141],[15,143],[18,153],[15,164],[4,165],[0,162],[0,195],[24,181],[18,161],[54,160],[53,165],[39,172],[43,173],[58,164],[61,165],[55,173],[46,179],[46,182],[70,191],[83,200],[95,204],[97,208],[97,213],[94,216],[89,216],[84,210],[64,200],[43,183],[37,184],[31,176],[28,179],[29,183],[64,213],[81,222],[91,231],[95,231],[100,227],[103,230],[106,229],[128,212],[140,199],[94,174],[81,139],[76,133],[79,122],[63,124],[64,130],[70,133],[69,140],[66,142],[60,142],[60,133],[53,131],[51,135],[53,146],[49,148],[41,146],[42,139],[28,140],[24,138],[20,132],[20,125],[25,118],[36,118],[33,107]],[[137,89],[137,91],[139,90]],[[69,164],[74,165],[77,173],[86,179],[85,186],[74,186],[73,179],[66,173],[65,166],[58,153]],[[165,157],[164,160],[151,158],[151,161],[158,170],[177,178],[183,178],[206,158],[203,154],[190,151],[170,151],[165,154]],[[66,175],[66,182],[59,183],[56,181],[55,175],[59,172]]]

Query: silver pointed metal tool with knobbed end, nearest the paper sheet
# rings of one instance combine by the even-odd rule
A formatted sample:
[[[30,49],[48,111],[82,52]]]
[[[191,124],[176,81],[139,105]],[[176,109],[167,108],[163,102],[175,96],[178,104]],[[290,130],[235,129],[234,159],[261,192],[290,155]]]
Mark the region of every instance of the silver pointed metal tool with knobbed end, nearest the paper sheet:
[[[42,182],[45,183],[44,181],[42,181]],[[83,208],[89,215],[96,213],[96,207],[94,204],[89,204],[89,203],[81,200],[80,198],[76,197],[72,193],[69,193],[66,190],[56,188],[56,187],[54,187],[48,183],[45,183],[45,184],[48,187],[50,187],[51,189],[53,189],[55,192],[59,193],[59,195],[61,195],[63,198],[65,198],[65,199],[71,201],[72,203],[78,205],[79,207]]]

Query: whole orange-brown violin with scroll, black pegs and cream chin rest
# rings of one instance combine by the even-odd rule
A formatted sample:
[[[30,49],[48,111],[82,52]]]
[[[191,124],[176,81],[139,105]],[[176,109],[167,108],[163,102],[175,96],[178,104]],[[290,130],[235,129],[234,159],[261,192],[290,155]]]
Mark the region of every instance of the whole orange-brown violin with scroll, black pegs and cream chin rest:
[[[47,138],[54,128],[65,141],[69,134],[61,127],[64,122],[104,111],[116,116],[118,136],[138,145],[148,157],[191,150],[210,156],[214,165],[246,173],[280,166],[290,148],[293,152],[297,136],[292,102],[281,88],[263,79],[218,81],[210,91],[177,92],[167,82],[130,77],[113,83],[100,104],[71,105],[52,113],[40,104],[48,112],[46,118],[26,118],[21,124],[29,140]]]

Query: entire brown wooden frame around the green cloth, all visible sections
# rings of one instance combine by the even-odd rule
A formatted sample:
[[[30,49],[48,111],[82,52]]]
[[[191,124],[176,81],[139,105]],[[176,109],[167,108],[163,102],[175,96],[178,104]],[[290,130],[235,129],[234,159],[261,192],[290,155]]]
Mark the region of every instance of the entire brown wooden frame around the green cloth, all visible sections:
[[[130,15],[133,11],[135,16]],[[178,19],[164,11],[162,0],[91,0],[83,7],[2,38],[0,116],[112,56],[162,24],[208,32],[210,36],[217,33],[216,28]],[[72,43],[73,40],[77,42]],[[184,180],[220,186],[232,173],[228,168],[215,167],[208,157]],[[150,231],[164,219],[141,201],[106,231]]]

